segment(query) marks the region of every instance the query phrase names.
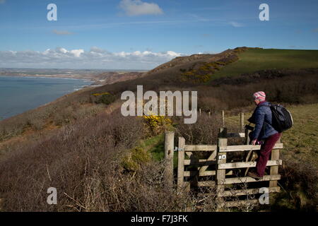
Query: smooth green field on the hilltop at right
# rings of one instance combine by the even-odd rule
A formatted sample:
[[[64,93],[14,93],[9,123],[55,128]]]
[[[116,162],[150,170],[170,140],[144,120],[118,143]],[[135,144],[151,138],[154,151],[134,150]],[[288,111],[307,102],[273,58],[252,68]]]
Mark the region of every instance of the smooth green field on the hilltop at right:
[[[264,69],[318,68],[318,50],[247,49],[239,60],[213,74],[213,79]]]

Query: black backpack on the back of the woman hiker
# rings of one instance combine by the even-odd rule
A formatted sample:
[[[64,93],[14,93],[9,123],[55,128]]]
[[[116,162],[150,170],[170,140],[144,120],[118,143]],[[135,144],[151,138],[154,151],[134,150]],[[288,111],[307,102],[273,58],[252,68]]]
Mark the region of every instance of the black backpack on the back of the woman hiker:
[[[270,108],[272,114],[271,126],[273,126],[273,129],[278,131],[278,133],[288,130],[293,126],[293,117],[288,109],[285,109],[282,105],[271,105]]]

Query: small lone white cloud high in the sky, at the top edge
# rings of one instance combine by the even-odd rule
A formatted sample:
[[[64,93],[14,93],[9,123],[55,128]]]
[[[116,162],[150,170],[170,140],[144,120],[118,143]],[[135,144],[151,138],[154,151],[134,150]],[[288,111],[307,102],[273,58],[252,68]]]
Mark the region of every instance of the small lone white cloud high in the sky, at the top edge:
[[[119,7],[128,16],[158,15],[163,14],[163,10],[155,3],[147,3],[141,0],[122,0]]]

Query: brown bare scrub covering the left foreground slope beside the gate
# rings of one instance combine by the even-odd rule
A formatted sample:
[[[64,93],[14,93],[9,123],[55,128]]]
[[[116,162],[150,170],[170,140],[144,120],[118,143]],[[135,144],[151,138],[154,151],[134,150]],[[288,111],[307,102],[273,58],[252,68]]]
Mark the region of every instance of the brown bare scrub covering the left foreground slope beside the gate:
[[[142,127],[138,117],[122,117],[119,111],[102,113],[7,153],[0,160],[1,208],[186,210],[192,197],[165,188],[163,162],[152,162],[145,150],[134,148],[144,136]],[[57,188],[57,205],[46,201],[51,186]]]

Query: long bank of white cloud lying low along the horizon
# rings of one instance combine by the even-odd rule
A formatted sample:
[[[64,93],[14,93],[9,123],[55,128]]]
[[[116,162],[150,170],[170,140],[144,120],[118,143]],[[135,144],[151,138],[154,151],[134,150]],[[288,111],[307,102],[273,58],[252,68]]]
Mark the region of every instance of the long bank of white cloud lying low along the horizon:
[[[0,51],[0,67],[57,69],[153,69],[183,54],[151,51],[107,52],[91,47],[84,49],[46,49],[40,51]]]

